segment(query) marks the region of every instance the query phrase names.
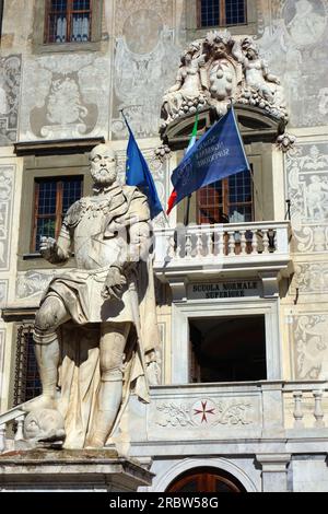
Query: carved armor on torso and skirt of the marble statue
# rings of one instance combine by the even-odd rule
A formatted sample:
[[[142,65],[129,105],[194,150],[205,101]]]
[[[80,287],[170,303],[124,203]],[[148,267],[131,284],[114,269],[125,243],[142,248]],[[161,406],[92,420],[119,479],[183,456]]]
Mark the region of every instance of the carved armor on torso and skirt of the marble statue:
[[[73,241],[78,268],[57,276],[45,297],[59,296],[79,324],[133,322],[130,299],[131,288],[136,288],[133,273],[127,277],[119,300],[105,301],[102,290],[110,266],[124,273],[129,229],[137,219],[149,221],[149,209],[144,195],[134,187],[115,185],[107,195],[77,201],[63,221],[58,245],[65,240]]]

